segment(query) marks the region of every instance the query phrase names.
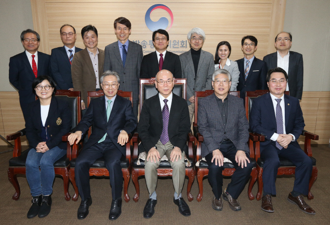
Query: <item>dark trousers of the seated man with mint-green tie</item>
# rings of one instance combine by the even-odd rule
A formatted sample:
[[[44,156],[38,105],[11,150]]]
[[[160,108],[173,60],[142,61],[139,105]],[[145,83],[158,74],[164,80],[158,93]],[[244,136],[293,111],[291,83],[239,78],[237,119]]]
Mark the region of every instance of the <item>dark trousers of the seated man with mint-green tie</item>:
[[[105,167],[109,171],[112,199],[122,196],[123,173],[120,166],[122,156],[123,154],[114,146],[108,136],[101,143],[96,143],[90,148],[81,151],[77,157],[74,169],[75,181],[81,200],[84,201],[91,196],[89,169],[101,157],[104,158]]]

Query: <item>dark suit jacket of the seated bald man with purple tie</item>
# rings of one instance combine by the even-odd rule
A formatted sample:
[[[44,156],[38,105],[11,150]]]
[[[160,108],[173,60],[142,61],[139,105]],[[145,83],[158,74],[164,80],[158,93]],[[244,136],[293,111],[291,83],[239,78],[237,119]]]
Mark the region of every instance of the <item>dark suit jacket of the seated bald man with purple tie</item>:
[[[175,94],[172,95],[168,119],[168,137],[173,146],[184,151],[190,131],[188,105],[184,98]],[[163,132],[163,115],[159,94],[144,100],[137,131],[141,139],[139,151],[148,153],[152,147],[156,146]]]

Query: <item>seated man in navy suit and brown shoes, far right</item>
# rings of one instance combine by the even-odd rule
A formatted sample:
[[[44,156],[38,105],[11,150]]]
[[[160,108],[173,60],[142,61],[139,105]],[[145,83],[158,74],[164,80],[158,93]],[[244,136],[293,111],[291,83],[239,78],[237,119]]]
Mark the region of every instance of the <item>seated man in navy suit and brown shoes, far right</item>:
[[[280,165],[279,157],[286,158],[296,165],[294,189],[288,200],[300,210],[315,214],[304,201],[302,194],[308,194],[309,179],[312,174],[312,160],[301,150],[297,139],[305,126],[299,100],[284,95],[287,87],[287,72],[276,67],[267,73],[269,94],[253,100],[250,112],[250,129],[265,137],[260,142],[260,157],[264,159],[264,193],[262,210],[274,212],[271,195],[276,194],[275,180]]]

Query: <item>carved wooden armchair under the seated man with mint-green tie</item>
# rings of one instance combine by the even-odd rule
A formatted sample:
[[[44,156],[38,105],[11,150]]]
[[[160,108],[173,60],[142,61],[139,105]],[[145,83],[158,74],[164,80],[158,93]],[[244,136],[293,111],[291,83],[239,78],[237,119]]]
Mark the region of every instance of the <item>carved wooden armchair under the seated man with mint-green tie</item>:
[[[125,97],[132,102],[132,99],[133,99],[132,92],[123,92],[123,91],[119,90],[117,95]],[[98,92],[88,92],[87,96],[88,96],[87,103],[89,105],[93,98],[104,96],[104,93],[102,90],[100,90]],[[90,136],[91,133],[92,133],[92,127],[90,127],[88,130],[88,136]],[[131,141],[131,139],[132,139],[131,134],[129,134],[129,138]],[[67,137],[66,137],[66,140],[67,140]],[[135,138],[135,140],[137,141],[136,138]],[[130,196],[127,192],[128,187],[129,187],[130,178],[131,178],[131,169],[132,169],[130,141],[128,143],[126,143],[126,157],[122,157],[121,163],[120,163],[120,165],[122,167],[123,177],[124,177],[124,199],[126,202],[130,201]],[[78,200],[78,188],[76,186],[75,176],[74,176],[75,161],[76,161],[76,158],[78,157],[78,155],[79,155],[78,146],[74,143],[72,145],[72,160],[70,161],[71,166],[70,166],[70,171],[69,171],[70,181],[74,187],[74,196],[72,197],[72,200],[74,200],[74,201]],[[93,165],[91,166],[91,168],[89,170],[89,175],[90,176],[109,176],[109,171],[107,170],[107,168],[104,165],[103,157],[99,158],[98,160],[96,160],[93,163]]]

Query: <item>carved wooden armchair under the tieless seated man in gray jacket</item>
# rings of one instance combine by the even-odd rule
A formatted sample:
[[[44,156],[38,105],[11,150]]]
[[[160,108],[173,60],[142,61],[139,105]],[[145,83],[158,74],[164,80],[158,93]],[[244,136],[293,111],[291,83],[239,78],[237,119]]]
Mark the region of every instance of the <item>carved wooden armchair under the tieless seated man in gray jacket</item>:
[[[197,173],[197,181],[198,181],[198,196],[197,201],[201,201],[203,197],[203,178],[208,175],[208,164],[207,162],[201,158],[201,142],[204,141],[204,137],[198,131],[198,99],[202,97],[206,97],[213,94],[213,90],[207,90],[204,92],[195,92],[195,122],[193,123],[194,134],[195,134],[195,145],[196,145],[196,152],[195,152],[195,165],[196,165],[196,173]],[[239,92],[229,92],[230,95],[239,97]],[[250,183],[248,187],[248,196],[250,200],[253,200],[255,197],[252,194],[252,188],[254,183],[257,180],[257,168],[256,168],[256,161],[254,160],[254,149],[253,149],[253,142],[258,141],[258,136],[250,133],[249,138],[249,148],[250,148],[250,158],[251,162],[254,163],[254,167],[251,172]],[[234,171],[234,165],[231,162],[224,162],[225,169],[222,171],[223,176],[231,176]]]

